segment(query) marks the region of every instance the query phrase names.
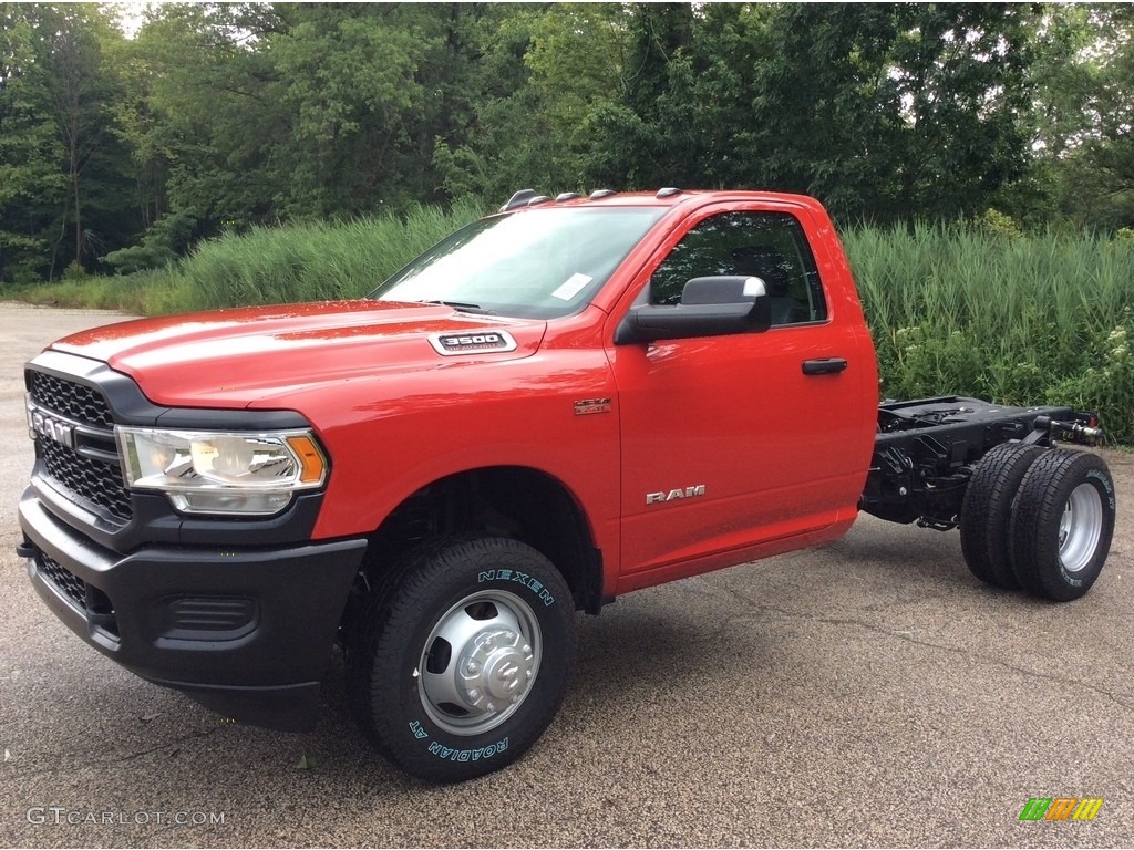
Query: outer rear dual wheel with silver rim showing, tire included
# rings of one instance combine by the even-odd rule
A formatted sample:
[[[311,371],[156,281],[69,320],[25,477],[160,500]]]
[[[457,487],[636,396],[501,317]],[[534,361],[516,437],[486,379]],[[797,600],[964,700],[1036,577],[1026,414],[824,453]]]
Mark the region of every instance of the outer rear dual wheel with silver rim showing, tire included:
[[[1115,483],[1098,454],[1046,452],[1013,505],[1012,568],[1030,593],[1069,602],[1099,578],[1115,530]]]

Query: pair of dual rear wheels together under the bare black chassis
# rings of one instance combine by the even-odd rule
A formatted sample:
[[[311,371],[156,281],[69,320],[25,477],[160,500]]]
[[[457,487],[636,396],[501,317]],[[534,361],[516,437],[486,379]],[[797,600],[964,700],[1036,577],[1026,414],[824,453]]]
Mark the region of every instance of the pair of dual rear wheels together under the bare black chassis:
[[[1004,443],[978,465],[960,546],[982,581],[1056,602],[1098,579],[1115,528],[1115,484],[1097,454]]]

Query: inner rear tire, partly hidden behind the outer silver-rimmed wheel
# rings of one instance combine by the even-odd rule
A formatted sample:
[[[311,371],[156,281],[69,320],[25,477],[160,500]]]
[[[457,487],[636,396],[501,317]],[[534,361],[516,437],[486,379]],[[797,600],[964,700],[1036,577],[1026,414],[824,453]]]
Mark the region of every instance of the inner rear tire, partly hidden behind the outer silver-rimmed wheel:
[[[1002,443],[973,470],[960,508],[960,551],[981,581],[1015,589],[1019,581],[1009,562],[1012,505],[1025,474],[1043,453],[1038,445]]]

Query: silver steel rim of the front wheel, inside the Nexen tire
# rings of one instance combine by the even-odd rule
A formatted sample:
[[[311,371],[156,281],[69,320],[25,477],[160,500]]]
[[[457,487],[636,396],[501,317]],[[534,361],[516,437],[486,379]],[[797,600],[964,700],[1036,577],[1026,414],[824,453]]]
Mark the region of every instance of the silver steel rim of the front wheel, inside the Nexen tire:
[[[430,631],[417,669],[417,695],[446,732],[496,729],[532,692],[542,656],[532,607],[507,590],[469,594]]]

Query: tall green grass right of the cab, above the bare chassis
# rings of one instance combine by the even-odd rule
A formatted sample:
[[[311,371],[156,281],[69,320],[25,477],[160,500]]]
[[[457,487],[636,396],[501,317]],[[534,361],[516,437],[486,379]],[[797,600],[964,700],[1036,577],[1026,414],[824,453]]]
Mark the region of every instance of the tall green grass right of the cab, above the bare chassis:
[[[844,233],[883,394],[1095,409],[1134,442],[1134,245],[974,228]]]

